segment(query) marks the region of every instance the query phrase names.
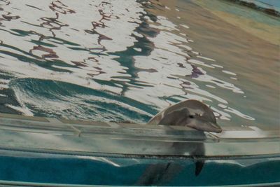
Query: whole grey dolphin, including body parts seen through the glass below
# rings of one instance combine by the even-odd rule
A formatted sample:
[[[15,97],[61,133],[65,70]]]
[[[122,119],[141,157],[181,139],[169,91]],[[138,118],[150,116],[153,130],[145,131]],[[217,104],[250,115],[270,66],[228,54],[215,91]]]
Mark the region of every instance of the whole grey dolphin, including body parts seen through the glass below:
[[[204,132],[222,132],[222,128],[217,124],[214,112],[202,102],[189,99],[167,107],[156,114],[148,125],[179,125],[191,127],[198,130],[202,137]],[[186,148],[186,146],[188,146]],[[205,155],[203,142],[181,143],[174,142],[172,148],[177,155],[184,155],[188,152],[193,158]],[[204,160],[195,159],[195,176],[199,175],[204,166]],[[172,162],[165,164],[150,165],[146,168],[144,174],[137,181],[137,185],[160,185],[180,172],[181,167],[174,165]]]

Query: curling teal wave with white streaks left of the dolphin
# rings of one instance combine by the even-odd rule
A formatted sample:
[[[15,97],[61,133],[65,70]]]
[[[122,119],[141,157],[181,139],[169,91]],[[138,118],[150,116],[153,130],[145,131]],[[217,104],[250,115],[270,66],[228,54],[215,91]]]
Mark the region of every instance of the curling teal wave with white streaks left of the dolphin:
[[[16,78],[9,86],[34,116],[146,123],[157,113],[152,106],[123,95],[66,82]]]

